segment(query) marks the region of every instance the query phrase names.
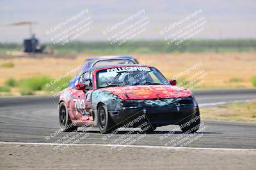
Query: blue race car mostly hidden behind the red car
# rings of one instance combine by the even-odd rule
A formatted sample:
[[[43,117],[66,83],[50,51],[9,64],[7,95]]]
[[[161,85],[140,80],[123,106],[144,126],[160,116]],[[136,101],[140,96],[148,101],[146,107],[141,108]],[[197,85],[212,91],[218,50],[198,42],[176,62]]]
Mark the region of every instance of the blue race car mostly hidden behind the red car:
[[[84,65],[81,71],[69,82],[69,87],[75,85],[76,81],[79,80],[81,73],[95,66],[108,66],[111,64],[138,64],[138,60],[131,56],[126,55],[106,55],[99,57],[90,57],[84,60]]]

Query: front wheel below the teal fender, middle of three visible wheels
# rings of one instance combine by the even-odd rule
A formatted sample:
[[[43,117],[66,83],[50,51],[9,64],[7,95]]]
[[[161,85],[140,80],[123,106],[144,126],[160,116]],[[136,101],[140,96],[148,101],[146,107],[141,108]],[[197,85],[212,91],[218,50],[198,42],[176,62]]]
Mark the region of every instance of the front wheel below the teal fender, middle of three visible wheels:
[[[97,114],[100,133],[106,134],[112,132],[115,129],[113,127],[115,124],[113,123],[113,120],[108,113],[108,108],[105,104],[100,104]]]

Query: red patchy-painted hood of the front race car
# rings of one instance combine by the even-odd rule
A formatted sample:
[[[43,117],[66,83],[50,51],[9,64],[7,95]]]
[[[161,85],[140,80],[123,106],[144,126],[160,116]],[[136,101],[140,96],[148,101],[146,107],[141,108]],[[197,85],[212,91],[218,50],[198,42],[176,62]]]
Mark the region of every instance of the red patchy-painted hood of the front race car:
[[[106,87],[100,90],[111,92],[122,100],[138,99],[168,99],[189,97],[190,90],[172,85],[138,85],[125,87]]]

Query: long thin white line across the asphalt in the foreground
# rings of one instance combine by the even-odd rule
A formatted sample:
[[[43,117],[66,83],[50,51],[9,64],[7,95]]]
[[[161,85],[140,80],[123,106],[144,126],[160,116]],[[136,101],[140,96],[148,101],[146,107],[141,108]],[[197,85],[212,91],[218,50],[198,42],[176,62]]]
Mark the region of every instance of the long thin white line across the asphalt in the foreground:
[[[256,151],[256,149],[237,149],[237,148],[190,148],[190,147],[168,147],[168,146],[148,146],[148,145],[105,145],[105,144],[64,144],[64,143],[23,143],[23,142],[0,142],[1,144],[14,145],[61,145],[61,146],[108,146],[124,148],[159,148],[168,150],[234,150],[234,151]]]

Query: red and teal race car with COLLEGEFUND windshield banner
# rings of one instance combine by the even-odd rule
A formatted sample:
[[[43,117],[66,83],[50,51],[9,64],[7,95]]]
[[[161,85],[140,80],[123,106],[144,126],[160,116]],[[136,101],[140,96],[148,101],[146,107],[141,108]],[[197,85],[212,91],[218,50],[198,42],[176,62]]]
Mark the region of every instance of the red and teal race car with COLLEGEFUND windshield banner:
[[[200,126],[198,104],[191,90],[176,83],[152,66],[92,67],[81,74],[74,87],[61,92],[60,126],[63,131],[93,126],[109,133],[124,125],[147,123],[150,128],[145,132],[154,132],[159,126],[174,124],[183,132],[196,132]]]

